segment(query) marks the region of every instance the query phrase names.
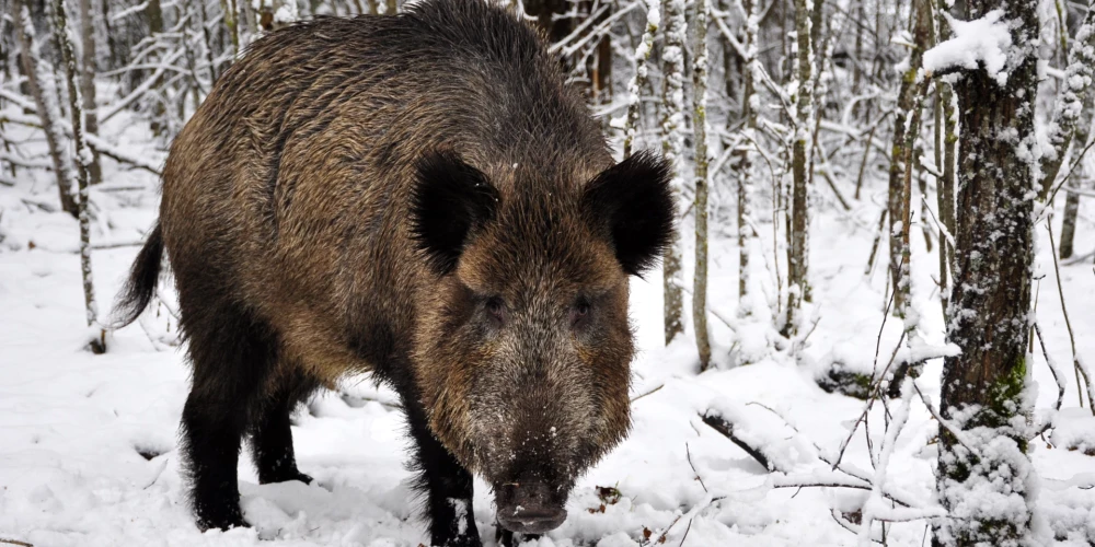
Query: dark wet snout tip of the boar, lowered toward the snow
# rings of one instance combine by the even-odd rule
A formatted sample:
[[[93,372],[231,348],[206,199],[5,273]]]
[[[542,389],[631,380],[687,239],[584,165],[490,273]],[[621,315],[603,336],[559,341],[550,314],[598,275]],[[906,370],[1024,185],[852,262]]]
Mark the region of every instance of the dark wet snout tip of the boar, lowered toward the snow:
[[[566,492],[546,482],[508,482],[495,488],[498,523],[510,532],[543,534],[566,520]]]

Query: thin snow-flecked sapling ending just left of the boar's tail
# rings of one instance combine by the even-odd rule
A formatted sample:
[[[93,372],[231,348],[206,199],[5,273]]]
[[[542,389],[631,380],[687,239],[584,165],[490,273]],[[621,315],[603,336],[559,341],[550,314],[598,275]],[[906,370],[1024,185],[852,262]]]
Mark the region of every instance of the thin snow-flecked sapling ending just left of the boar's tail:
[[[74,159],[77,185],[79,193],[79,219],[80,219],[80,271],[83,276],[83,302],[87,312],[89,327],[99,325],[99,306],[95,302],[95,287],[91,274],[91,217],[88,212],[88,184],[90,173],[88,166],[92,162],[91,150],[84,140],[83,113],[80,108],[80,88],[78,84],[79,73],[77,72],[76,53],[72,48],[72,39],[68,31],[68,16],[65,13],[65,0],[54,1],[54,34],[57,39],[61,62],[65,66],[65,80],[68,84],[68,94],[72,116],[72,143],[74,146]],[[91,340],[91,350],[95,353],[106,351],[104,340],[105,330]]]

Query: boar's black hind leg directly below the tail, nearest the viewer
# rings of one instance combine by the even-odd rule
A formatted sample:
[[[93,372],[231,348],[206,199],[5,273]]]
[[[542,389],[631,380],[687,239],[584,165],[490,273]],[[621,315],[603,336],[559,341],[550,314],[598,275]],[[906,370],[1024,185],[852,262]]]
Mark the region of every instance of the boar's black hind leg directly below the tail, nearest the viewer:
[[[234,306],[208,300],[201,306],[180,291],[194,364],[182,423],[191,501],[203,529],[246,526],[237,465],[249,416],[275,362],[274,336]]]

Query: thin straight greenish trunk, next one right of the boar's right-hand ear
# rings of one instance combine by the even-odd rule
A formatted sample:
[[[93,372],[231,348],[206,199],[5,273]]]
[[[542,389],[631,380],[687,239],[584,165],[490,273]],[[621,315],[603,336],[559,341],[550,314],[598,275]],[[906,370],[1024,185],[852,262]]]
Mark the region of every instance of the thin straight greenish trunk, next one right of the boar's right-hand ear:
[[[692,325],[700,370],[711,364],[707,336],[707,1],[695,1],[695,51],[692,68],[692,125],[695,135],[695,277],[692,282]]]

